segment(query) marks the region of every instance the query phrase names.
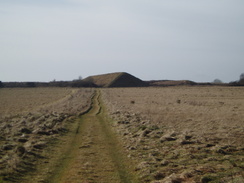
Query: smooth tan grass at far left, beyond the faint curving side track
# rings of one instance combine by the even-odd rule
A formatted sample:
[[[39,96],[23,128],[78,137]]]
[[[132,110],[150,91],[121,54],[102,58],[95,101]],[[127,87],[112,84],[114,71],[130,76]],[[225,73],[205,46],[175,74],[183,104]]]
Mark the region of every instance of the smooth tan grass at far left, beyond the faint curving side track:
[[[72,93],[70,88],[0,89],[0,116],[33,111]]]

